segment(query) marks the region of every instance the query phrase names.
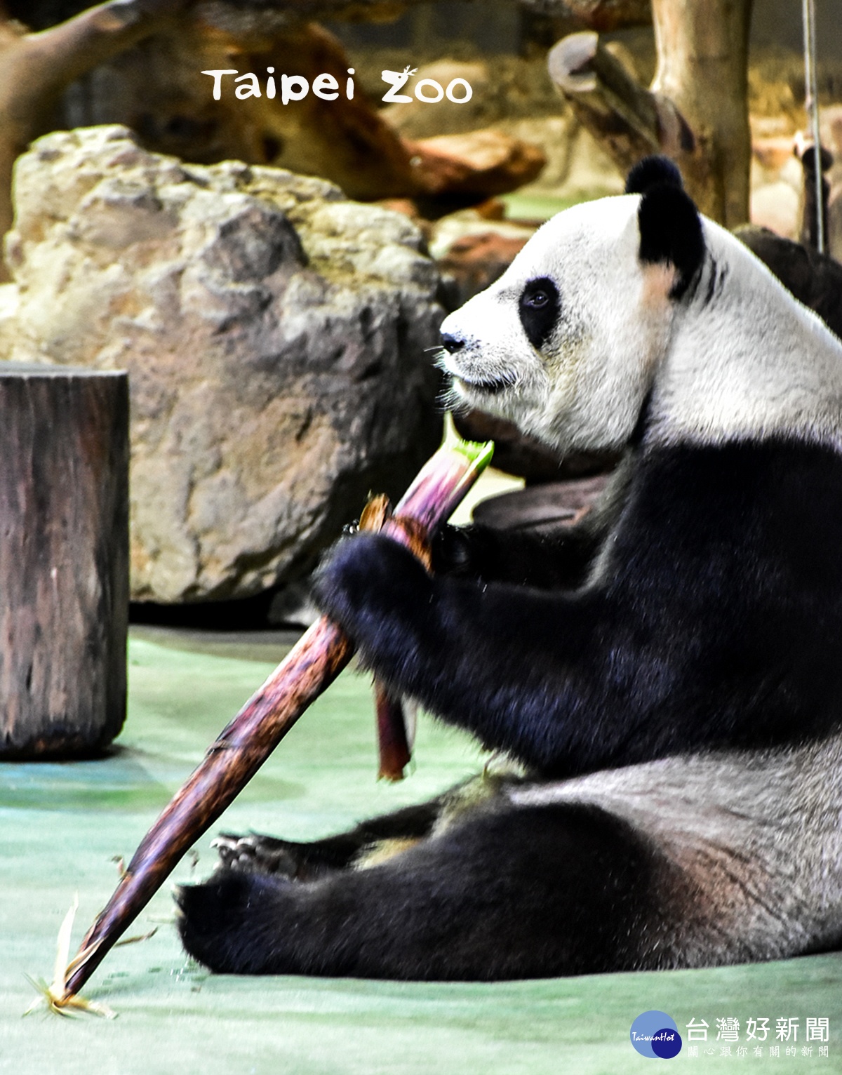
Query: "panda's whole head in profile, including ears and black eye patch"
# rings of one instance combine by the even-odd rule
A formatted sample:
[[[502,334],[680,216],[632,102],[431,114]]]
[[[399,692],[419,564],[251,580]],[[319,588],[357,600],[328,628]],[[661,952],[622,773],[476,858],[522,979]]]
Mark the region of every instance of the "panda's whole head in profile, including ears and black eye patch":
[[[629,441],[705,246],[671,161],[642,161],[626,189],[559,213],[444,320],[452,405],[561,452]]]

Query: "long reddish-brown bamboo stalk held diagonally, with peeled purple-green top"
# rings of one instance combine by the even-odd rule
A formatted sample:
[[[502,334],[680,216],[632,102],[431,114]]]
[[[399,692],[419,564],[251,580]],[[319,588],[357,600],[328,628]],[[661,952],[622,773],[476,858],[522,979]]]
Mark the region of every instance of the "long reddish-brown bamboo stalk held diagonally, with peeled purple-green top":
[[[422,468],[386,517],[375,500],[360,527],[381,529],[425,556],[434,528],[447,519],[491,458],[490,444],[445,443]],[[141,841],[117,888],[97,916],[66,973],[57,1006],[68,1004],[90,978],[120,934],[140,914],[184,852],[228,807],[310,703],[339,675],[353,655],[345,634],[319,619],[279,664],[209,747],[204,759]]]

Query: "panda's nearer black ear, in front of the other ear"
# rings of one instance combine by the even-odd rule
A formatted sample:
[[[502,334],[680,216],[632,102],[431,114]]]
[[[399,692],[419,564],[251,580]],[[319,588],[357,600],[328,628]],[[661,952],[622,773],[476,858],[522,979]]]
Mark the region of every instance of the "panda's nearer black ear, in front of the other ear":
[[[654,169],[654,162],[665,160],[665,157],[647,157],[636,168],[652,161],[647,167]],[[671,181],[656,180],[641,191],[638,209],[639,256],[644,264],[675,267],[676,276],[670,289],[670,298],[680,299],[704,259],[704,231],[699,211],[682,186],[677,168],[672,161],[668,163],[670,176],[673,173],[677,176],[677,185]],[[629,173],[629,181],[633,172],[634,169]]]

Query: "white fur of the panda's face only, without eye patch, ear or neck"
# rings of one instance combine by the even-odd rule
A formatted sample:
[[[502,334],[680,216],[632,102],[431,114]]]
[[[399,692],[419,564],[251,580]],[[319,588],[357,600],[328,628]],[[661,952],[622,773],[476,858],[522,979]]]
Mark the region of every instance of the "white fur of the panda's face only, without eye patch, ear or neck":
[[[626,444],[672,321],[663,286],[670,274],[638,267],[637,201],[608,198],[554,217],[496,284],[445,318],[442,332],[466,341],[456,355],[442,356],[453,377],[451,402],[508,418],[562,453]],[[544,355],[512,316],[536,275],[552,275],[561,297]],[[566,303],[566,295],[575,302]],[[474,387],[498,378],[511,387]]]

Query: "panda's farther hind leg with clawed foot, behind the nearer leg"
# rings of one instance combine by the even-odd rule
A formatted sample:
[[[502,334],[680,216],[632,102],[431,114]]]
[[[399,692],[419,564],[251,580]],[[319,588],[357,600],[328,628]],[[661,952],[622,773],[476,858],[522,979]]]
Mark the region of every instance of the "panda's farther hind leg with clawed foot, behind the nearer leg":
[[[347,832],[299,843],[258,833],[222,833],[213,842],[222,865],[242,873],[315,880],[358,861],[388,857],[429,835],[442,809],[441,798],[371,818]]]

